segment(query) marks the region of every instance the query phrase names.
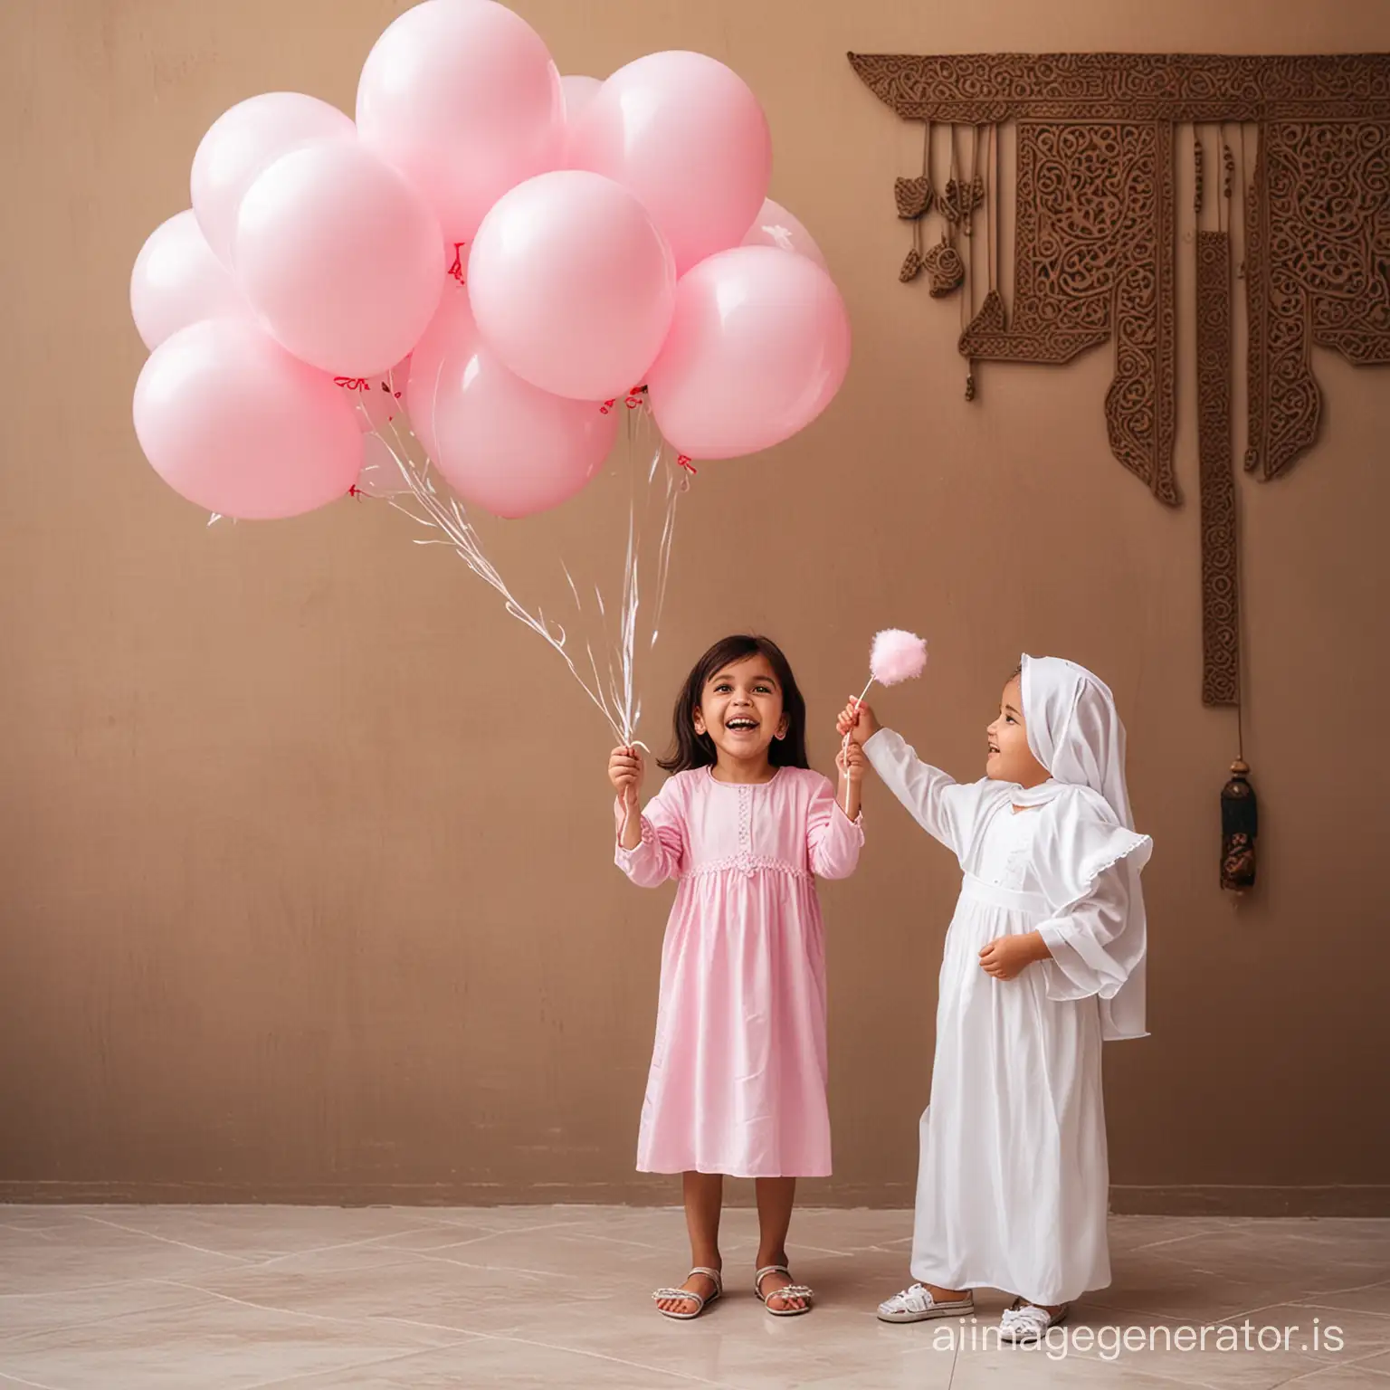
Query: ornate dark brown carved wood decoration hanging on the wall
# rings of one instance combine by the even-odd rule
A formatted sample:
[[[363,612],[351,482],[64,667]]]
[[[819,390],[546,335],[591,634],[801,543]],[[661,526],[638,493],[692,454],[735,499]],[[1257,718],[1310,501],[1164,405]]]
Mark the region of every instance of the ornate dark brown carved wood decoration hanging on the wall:
[[[1013,299],[994,282],[960,334],[974,361],[1066,363],[1113,343],[1111,450],[1163,503],[1173,470],[1179,125],[1258,128],[1244,188],[1248,318],[1245,467],[1284,473],[1315,441],[1314,345],[1390,363],[1390,54],[1252,57],[1152,53],[849,54],[866,86],[909,121],[1017,129]],[[955,146],[952,145],[952,150]],[[991,143],[992,149],[992,143]],[[1234,160],[1223,147],[1225,199]],[[1197,210],[1204,192],[1195,142]],[[923,268],[922,218],[959,213],[948,183],[903,181]],[[910,197],[908,196],[910,193]],[[998,182],[992,197],[998,197]],[[972,204],[973,206],[973,204]],[[908,208],[910,207],[910,214]],[[1236,489],[1230,443],[1230,243],[1198,232],[1202,698],[1238,703]],[[942,282],[933,279],[934,292]],[[973,398],[973,375],[967,396]]]

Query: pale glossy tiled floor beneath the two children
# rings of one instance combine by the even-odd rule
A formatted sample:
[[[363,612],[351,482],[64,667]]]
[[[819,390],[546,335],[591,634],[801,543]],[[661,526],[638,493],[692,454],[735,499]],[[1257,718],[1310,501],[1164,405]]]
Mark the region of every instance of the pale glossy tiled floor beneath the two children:
[[[730,1293],[676,1323],[648,1301],[685,1270],[674,1209],[0,1208],[0,1390],[1390,1390],[1390,1220],[1115,1218],[1113,1286],[1037,1351],[874,1319],[906,1282],[909,1220],[799,1212],[794,1268],[820,1304],[770,1318],[753,1213],[731,1211]],[[1004,1295],[977,1302],[980,1339]]]

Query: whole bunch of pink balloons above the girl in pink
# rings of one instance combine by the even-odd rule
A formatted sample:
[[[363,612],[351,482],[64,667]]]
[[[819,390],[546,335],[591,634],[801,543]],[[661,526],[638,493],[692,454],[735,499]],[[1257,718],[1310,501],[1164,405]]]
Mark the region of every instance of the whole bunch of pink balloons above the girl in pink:
[[[849,363],[770,168],[756,97],[713,58],[562,78],[495,0],[423,0],[367,56],[356,120],[272,92],[203,136],[192,207],[131,278],[140,445],[236,517],[349,492],[402,406],[500,516],[582,488],[617,428],[603,403],[637,386],[691,459],[766,449]]]

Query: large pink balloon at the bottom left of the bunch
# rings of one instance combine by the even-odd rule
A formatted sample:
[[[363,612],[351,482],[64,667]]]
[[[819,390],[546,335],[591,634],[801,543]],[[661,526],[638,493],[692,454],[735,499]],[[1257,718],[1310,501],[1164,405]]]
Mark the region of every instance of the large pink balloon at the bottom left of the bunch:
[[[343,392],[236,318],[192,324],[154,349],[135,386],[135,432],[175,492],[229,517],[313,512],[361,468]]]

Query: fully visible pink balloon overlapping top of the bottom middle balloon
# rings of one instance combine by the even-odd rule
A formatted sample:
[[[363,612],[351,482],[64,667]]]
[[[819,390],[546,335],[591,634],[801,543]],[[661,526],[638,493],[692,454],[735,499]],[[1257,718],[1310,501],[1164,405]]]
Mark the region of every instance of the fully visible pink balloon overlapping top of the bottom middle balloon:
[[[676,270],[627,189],[560,170],[512,189],[484,218],[468,297],[518,377],[556,396],[605,400],[641,385],[660,352]]]

